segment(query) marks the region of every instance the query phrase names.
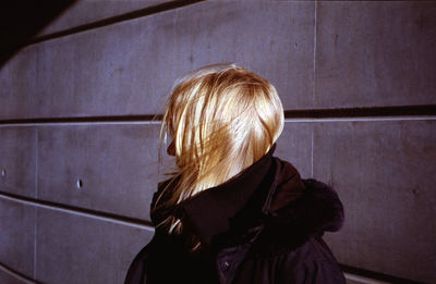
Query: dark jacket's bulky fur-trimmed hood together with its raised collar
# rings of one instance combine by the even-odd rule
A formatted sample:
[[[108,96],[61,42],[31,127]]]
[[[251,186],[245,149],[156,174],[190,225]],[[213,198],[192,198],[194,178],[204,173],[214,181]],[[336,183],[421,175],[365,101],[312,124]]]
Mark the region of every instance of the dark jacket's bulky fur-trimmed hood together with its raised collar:
[[[184,220],[206,247],[255,238],[261,247],[298,246],[325,231],[340,230],[343,207],[335,190],[302,180],[291,163],[272,157],[275,149],[276,145],[237,177],[183,203]]]

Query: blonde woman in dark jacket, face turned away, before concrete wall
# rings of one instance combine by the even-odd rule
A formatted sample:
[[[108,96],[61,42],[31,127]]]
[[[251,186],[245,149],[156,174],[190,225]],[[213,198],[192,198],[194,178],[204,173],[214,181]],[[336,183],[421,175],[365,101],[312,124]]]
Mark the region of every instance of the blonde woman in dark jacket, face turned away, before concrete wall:
[[[243,67],[175,84],[161,137],[177,170],[154,195],[155,236],[125,283],[344,283],[322,239],[342,226],[342,205],[272,157],[282,128],[275,87]]]

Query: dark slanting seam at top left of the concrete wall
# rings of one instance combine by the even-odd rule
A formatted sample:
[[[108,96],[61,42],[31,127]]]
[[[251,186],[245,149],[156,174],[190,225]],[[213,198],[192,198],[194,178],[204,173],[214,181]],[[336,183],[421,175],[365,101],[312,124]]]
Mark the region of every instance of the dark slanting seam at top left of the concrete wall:
[[[141,10],[136,10],[136,11],[133,11],[133,12],[128,12],[128,13],[124,13],[124,14],[121,14],[121,15],[107,17],[107,18],[95,21],[95,22],[87,23],[87,24],[84,24],[84,25],[66,28],[66,29],[63,29],[63,30],[55,32],[55,33],[51,33],[51,34],[48,34],[48,35],[44,35],[44,36],[39,36],[39,37],[35,37],[35,38],[28,40],[26,44],[24,44],[23,47],[35,45],[35,44],[39,44],[39,42],[44,42],[44,41],[47,41],[47,40],[50,40],[50,39],[56,39],[56,38],[60,38],[60,37],[65,37],[65,36],[74,35],[74,34],[78,34],[78,33],[86,32],[86,30],[89,30],[89,29],[95,29],[95,28],[99,28],[99,27],[105,27],[105,26],[122,23],[122,22],[130,21],[130,20],[135,20],[135,18],[143,17],[143,16],[157,14],[157,13],[165,12],[165,11],[174,10],[174,9],[178,9],[178,8],[186,7],[186,5],[198,3],[198,2],[203,2],[203,1],[205,1],[205,0],[175,0],[175,1],[168,1],[168,2],[165,2],[165,3],[157,4],[157,5],[147,7],[147,8],[141,9]]]

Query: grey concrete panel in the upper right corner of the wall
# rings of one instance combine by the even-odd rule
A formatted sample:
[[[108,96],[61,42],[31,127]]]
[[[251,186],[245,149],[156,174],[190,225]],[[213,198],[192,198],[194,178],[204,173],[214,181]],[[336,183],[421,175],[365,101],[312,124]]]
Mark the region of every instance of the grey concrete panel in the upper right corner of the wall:
[[[434,1],[320,1],[315,107],[436,103]]]

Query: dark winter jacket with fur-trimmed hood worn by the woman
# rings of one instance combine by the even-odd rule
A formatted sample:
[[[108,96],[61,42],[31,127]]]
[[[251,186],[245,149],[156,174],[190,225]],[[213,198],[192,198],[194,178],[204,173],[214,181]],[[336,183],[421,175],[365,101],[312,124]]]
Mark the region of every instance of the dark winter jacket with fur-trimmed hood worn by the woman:
[[[301,180],[290,163],[272,157],[274,150],[183,203],[183,224],[199,237],[202,249],[190,252],[183,237],[157,229],[133,260],[125,284],[346,283],[322,239],[325,231],[342,226],[337,194]],[[155,212],[152,221],[167,215]]]

